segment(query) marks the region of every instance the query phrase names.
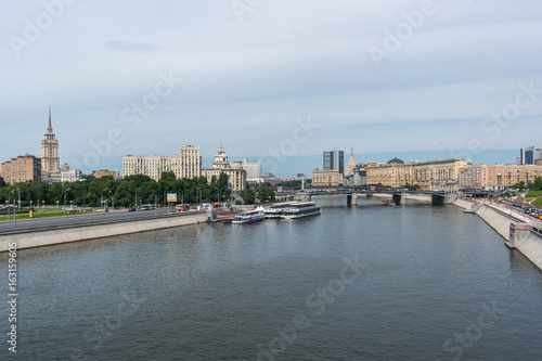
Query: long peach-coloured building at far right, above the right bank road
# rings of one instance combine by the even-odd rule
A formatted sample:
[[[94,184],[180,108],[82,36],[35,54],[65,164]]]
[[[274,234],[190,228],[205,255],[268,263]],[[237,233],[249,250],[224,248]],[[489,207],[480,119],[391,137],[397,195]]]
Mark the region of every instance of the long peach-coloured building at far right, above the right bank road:
[[[460,169],[460,188],[505,190],[524,181],[529,184],[542,176],[542,165],[470,166]]]

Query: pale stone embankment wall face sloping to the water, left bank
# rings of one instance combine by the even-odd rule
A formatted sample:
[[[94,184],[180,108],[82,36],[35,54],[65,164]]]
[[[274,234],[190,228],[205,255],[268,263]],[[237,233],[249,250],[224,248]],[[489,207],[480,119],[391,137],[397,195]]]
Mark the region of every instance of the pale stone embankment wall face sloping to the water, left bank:
[[[42,230],[0,235],[0,252],[7,252],[9,244],[15,242],[17,249],[50,246],[61,243],[88,241],[130,233],[155,231],[207,221],[208,215],[198,212],[184,217],[134,220],[112,224],[96,224],[59,230]]]

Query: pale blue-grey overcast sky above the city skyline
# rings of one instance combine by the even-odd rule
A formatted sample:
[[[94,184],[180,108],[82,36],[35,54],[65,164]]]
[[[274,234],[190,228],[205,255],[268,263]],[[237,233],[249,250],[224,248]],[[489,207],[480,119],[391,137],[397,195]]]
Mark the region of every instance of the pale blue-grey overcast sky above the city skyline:
[[[86,172],[186,144],[312,156],[307,172],[333,146],[485,162],[542,143],[540,0],[0,7],[1,162],[40,155],[49,106],[61,163]]]

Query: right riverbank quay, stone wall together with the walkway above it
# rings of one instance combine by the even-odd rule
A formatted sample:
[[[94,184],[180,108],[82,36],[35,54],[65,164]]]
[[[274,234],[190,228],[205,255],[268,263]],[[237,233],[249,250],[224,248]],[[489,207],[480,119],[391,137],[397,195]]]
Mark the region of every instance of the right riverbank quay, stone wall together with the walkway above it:
[[[504,240],[511,249],[519,250],[542,270],[542,224],[512,207],[487,199],[470,202],[456,199],[454,205],[475,212]]]

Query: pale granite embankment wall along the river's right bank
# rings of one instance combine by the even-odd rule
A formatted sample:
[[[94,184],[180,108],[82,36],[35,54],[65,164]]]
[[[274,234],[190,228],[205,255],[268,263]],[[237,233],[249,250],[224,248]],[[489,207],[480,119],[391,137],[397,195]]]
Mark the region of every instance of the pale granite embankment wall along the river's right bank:
[[[472,207],[476,206],[476,203],[457,199],[454,205],[475,209]],[[486,204],[478,204],[478,207],[475,212],[503,236],[508,247],[519,250],[542,270],[542,235],[534,232],[530,223]]]

